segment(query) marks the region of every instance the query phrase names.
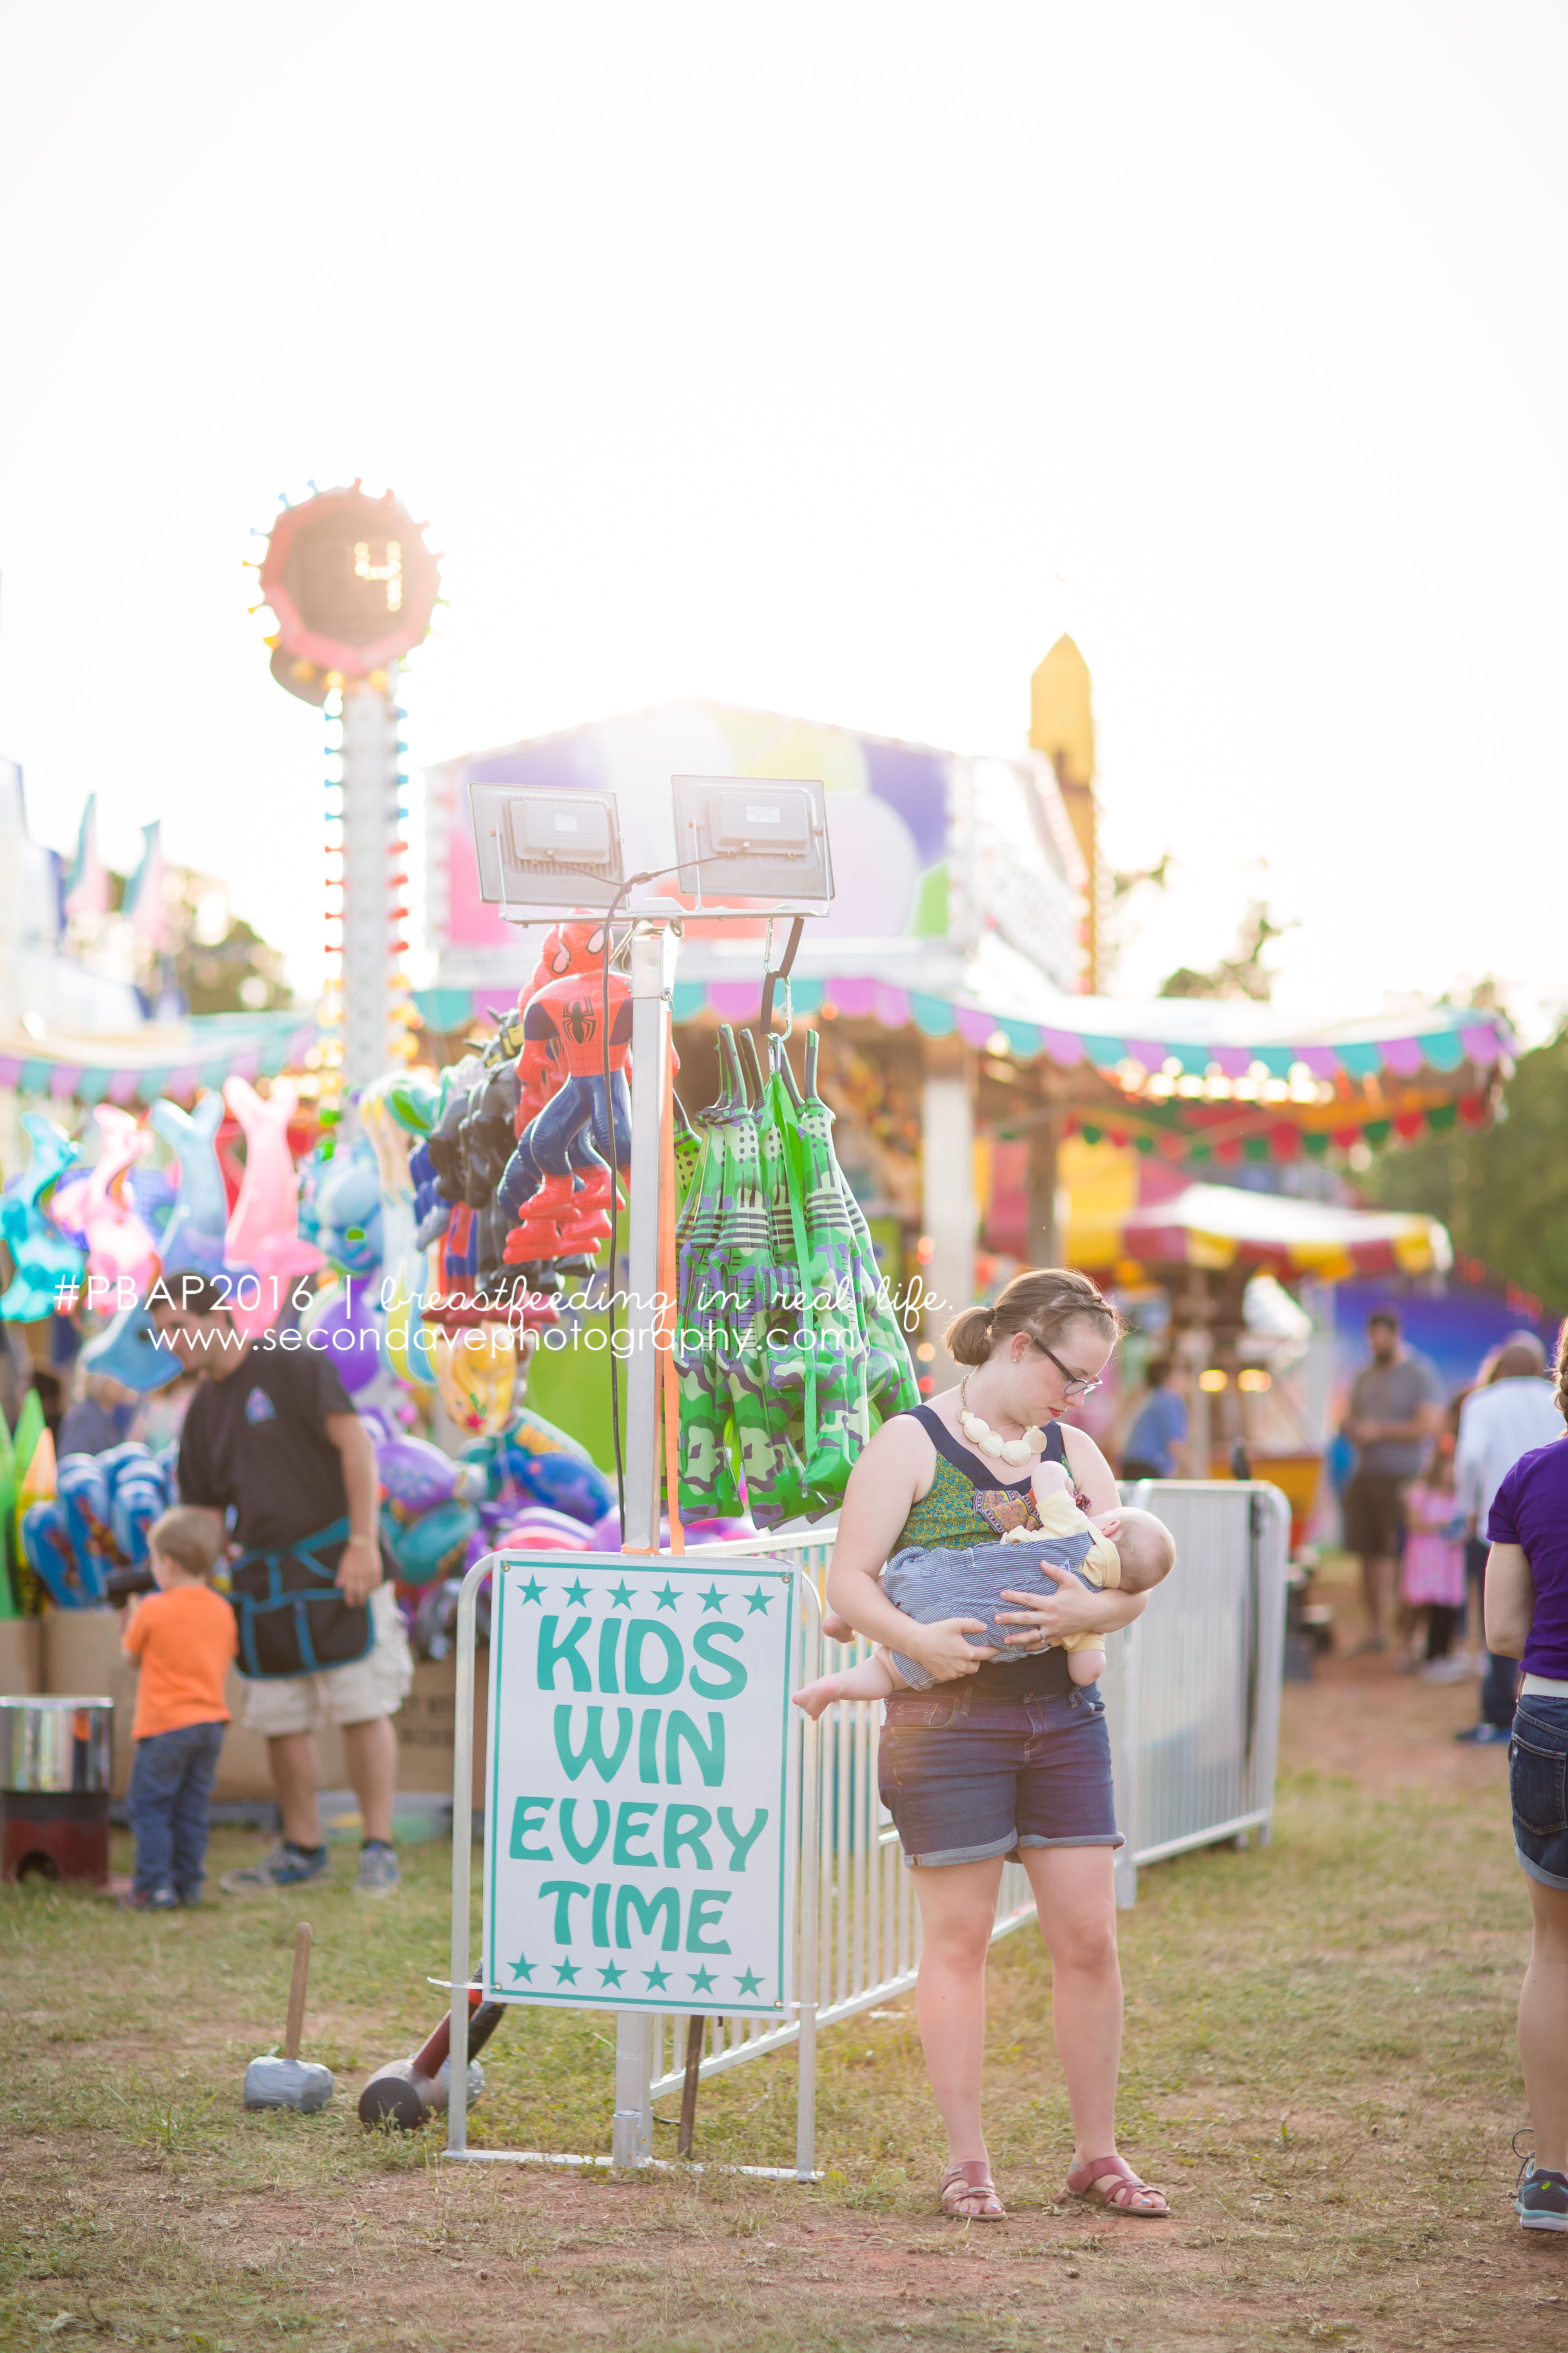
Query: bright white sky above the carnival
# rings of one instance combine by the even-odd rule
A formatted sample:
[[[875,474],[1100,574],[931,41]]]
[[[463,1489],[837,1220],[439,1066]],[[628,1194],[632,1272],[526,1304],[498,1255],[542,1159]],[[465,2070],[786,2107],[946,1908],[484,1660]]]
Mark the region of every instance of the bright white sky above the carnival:
[[[449,551],[414,760],[1093,675],[1124,986],[1568,1000],[1561,5],[0,0],[0,746],[320,972],[247,536]]]

